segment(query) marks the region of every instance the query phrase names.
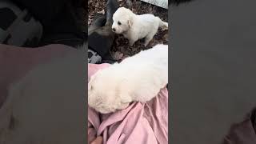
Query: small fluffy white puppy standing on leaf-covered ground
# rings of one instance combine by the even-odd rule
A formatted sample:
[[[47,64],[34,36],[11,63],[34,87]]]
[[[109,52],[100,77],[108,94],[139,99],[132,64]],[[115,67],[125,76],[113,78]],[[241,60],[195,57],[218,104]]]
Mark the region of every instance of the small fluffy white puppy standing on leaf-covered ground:
[[[114,33],[123,34],[128,38],[130,46],[142,38],[145,38],[145,46],[147,46],[157,33],[158,27],[168,29],[168,23],[153,14],[137,15],[125,7],[118,8],[113,15],[113,21]]]

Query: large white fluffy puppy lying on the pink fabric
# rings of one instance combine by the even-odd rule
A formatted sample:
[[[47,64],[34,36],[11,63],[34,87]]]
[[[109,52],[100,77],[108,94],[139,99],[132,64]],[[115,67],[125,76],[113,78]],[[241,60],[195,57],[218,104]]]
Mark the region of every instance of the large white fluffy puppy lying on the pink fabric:
[[[147,102],[168,83],[168,46],[157,45],[98,70],[88,84],[88,104],[102,114]]]

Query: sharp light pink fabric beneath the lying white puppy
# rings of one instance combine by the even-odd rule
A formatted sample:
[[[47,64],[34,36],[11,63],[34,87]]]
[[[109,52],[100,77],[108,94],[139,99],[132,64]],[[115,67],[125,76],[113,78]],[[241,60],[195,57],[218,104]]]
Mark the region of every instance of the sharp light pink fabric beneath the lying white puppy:
[[[108,64],[89,64],[89,76]],[[98,114],[88,108],[89,142],[103,136],[104,144],[167,144],[168,143],[168,91],[146,104],[134,102],[125,110],[113,114]]]

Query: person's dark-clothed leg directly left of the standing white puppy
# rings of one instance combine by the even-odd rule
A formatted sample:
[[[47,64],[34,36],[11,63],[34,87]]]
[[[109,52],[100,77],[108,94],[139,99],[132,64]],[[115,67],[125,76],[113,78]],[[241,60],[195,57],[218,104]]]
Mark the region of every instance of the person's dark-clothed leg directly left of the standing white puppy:
[[[89,49],[97,52],[102,57],[102,62],[115,62],[110,54],[110,48],[115,38],[111,26],[112,16],[118,7],[117,0],[108,0],[106,2],[106,15],[97,18],[88,30]]]

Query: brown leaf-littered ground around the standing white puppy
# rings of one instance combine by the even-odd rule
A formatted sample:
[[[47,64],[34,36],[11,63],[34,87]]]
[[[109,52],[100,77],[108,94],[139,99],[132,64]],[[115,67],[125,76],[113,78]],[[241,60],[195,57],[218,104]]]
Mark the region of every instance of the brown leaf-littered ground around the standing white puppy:
[[[163,21],[168,21],[168,10],[163,9],[158,6],[150,5],[146,2],[141,2],[139,0],[118,0],[120,6],[124,6],[132,10],[135,14],[154,14],[158,16]],[[105,13],[106,0],[89,0],[88,8],[89,8],[89,20],[88,25],[92,22],[95,15],[104,14]],[[122,35],[117,35],[115,39],[114,45],[112,47],[112,52],[114,54],[114,58],[126,58],[127,56],[131,56],[137,54],[141,50],[146,50],[155,46],[156,44],[168,44],[168,30],[158,30],[158,33],[154,36],[153,40],[150,42],[149,46],[143,45],[143,40],[135,42],[134,46],[129,46],[128,40],[123,38]],[[120,54],[122,55],[120,57]]]

